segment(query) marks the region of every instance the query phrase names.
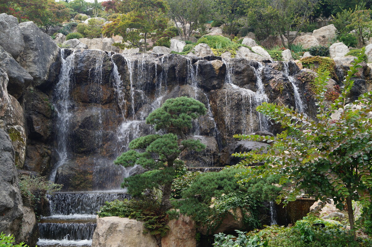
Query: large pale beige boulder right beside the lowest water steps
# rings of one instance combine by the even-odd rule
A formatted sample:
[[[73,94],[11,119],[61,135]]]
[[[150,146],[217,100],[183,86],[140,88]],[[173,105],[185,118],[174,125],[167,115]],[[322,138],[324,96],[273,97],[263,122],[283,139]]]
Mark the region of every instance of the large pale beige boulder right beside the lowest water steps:
[[[143,234],[144,229],[143,222],[134,219],[99,218],[92,247],[158,247],[155,237]]]

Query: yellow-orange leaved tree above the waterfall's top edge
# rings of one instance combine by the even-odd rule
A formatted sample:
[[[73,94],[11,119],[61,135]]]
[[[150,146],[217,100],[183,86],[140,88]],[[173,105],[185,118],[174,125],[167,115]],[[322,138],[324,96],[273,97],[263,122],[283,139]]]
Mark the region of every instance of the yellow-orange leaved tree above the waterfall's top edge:
[[[129,12],[119,15],[112,23],[106,24],[103,34],[107,37],[122,36],[123,42],[115,44],[121,48],[137,47],[142,52],[146,52],[151,33],[167,27],[166,3],[163,0],[138,0],[131,1],[126,8]]]

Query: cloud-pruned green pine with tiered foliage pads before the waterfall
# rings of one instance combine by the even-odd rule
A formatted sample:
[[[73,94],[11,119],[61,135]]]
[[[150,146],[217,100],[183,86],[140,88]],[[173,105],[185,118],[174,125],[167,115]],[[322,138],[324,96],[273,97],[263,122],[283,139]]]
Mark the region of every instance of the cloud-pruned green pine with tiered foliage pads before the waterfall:
[[[185,149],[202,151],[205,148],[199,140],[188,139],[186,135],[192,128],[192,120],[205,113],[203,103],[185,96],[167,99],[151,112],[146,123],[153,124],[156,131],[164,129],[168,134],[142,136],[129,143],[129,150],[120,155],[115,164],[124,167],[141,165],[149,171],[125,178],[122,187],[128,188],[132,196],[158,188],[163,193],[161,210],[170,209],[172,182],[176,169],[183,166],[177,158]]]

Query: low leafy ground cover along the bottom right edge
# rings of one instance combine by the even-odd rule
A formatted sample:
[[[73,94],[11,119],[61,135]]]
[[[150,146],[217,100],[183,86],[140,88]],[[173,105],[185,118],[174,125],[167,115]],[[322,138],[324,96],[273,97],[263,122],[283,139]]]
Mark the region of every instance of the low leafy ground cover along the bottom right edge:
[[[316,224],[324,224],[318,227]],[[324,220],[311,222],[306,218],[299,220],[293,227],[273,225],[263,230],[249,233],[237,231],[238,236],[215,234],[214,246],[218,247],[364,247],[371,240],[353,240],[352,234],[342,225],[331,224]]]

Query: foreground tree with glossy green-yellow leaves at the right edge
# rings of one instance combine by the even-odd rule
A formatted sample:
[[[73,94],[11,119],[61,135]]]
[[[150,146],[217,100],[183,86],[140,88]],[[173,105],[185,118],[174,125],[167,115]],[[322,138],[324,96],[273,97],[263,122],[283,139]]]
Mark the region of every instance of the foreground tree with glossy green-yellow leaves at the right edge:
[[[347,206],[350,228],[355,237],[352,201],[365,208],[371,206],[372,196],[372,92],[364,93],[355,102],[347,97],[353,87],[352,77],[362,54],[350,66],[341,94],[334,103],[325,101],[327,74],[317,79],[318,114],[313,120],[295,112],[293,108],[263,103],[257,110],[280,123],[285,130],[277,136],[236,135],[240,139],[267,141],[272,145],[267,153],[255,150],[236,157],[242,163],[263,162],[247,169],[243,180],[253,177],[281,175],[285,185],[277,202],[295,201],[302,193],[320,200],[315,212],[333,199],[337,208]],[[350,102],[350,103],[349,103]],[[332,115],[333,113],[333,115]],[[312,212],[312,213],[315,213]]]

